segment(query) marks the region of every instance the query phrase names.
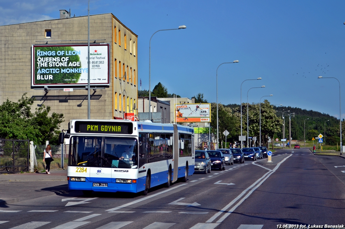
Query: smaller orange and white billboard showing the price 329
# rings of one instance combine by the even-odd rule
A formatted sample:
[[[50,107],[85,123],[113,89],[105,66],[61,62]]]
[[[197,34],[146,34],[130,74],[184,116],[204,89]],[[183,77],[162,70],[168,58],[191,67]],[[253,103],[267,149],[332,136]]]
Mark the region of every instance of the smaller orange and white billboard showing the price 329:
[[[175,104],[175,116],[178,123],[211,122],[210,103]]]

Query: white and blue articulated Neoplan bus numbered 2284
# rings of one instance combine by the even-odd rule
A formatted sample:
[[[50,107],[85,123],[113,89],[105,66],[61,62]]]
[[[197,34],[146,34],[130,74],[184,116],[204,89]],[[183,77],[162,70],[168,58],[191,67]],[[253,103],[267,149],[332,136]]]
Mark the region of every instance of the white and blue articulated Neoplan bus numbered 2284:
[[[194,129],[127,120],[71,120],[68,188],[142,192],[194,173]]]

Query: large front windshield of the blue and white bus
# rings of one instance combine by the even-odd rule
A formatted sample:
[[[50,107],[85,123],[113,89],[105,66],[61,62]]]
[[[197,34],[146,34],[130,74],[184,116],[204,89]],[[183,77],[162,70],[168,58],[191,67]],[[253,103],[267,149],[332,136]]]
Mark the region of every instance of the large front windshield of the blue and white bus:
[[[71,139],[69,165],[137,168],[137,144],[135,138],[75,136]]]

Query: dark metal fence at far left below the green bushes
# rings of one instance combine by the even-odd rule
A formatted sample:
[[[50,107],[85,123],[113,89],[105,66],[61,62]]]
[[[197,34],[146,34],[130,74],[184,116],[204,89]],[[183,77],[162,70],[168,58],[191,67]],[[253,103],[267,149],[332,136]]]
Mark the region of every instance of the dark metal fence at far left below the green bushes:
[[[0,139],[0,173],[29,171],[29,140]]]

